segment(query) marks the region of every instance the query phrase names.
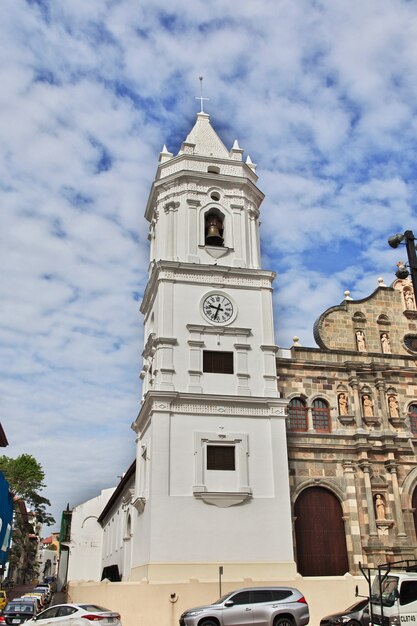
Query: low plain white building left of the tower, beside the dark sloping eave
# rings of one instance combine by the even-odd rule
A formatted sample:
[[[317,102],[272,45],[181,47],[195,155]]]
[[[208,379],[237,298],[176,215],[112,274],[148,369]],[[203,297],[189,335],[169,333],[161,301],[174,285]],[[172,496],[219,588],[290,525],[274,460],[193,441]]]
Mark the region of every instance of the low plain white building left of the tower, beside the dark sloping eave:
[[[99,496],[73,508],[68,581],[101,580],[103,528],[98,518],[114,490],[103,489]]]

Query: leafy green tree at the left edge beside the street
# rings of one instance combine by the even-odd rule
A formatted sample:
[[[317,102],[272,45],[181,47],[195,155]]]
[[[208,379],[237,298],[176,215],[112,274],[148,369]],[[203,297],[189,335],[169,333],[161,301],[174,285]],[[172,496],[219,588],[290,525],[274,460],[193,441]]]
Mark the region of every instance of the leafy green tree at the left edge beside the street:
[[[21,454],[16,459],[0,456],[0,471],[9,483],[10,490],[26,502],[40,524],[51,526],[55,523],[52,515],[46,511],[51,503],[39,493],[45,487],[45,472],[31,454]]]

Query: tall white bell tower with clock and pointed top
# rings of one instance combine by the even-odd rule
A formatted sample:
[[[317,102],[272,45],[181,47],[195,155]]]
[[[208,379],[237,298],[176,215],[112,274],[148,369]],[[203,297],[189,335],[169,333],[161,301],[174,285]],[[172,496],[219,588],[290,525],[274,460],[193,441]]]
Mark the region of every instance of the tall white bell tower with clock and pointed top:
[[[150,273],[131,579],[292,578],[291,509],[255,166],[197,121],[164,146]]]

